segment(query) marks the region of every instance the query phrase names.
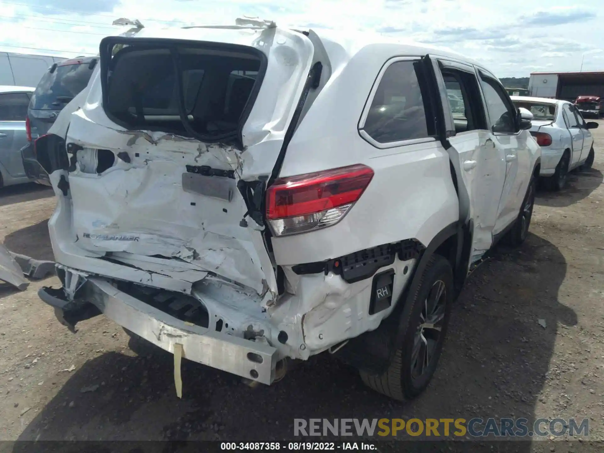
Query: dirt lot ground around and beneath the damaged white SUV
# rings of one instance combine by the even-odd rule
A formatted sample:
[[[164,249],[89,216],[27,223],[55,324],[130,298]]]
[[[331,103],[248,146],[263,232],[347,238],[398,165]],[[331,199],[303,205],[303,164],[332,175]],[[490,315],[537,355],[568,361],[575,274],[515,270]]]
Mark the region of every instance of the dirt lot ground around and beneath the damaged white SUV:
[[[435,379],[413,402],[367,390],[354,370],[329,356],[256,388],[185,362],[179,400],[171,355],[137,355],[103,316],[79,324],[76,334],[61,326],[36,295],[40,286],[59,283],[53,277],[32,281],[24,292],[0,288],[0,440],[268,441],[291,439],[294,418],[411,416],[589,417],[590,440],[604,440],[600,125],[594,168],[573,173],[562,193],[540,191],[525,245],[500,248],[471,275]],[[45,188],[2,190],[0,240],[11,251],[52,259],[53,208]],[[562,437],[555,451],[578,445]],[[543,448],[533,442],[524,451]]]

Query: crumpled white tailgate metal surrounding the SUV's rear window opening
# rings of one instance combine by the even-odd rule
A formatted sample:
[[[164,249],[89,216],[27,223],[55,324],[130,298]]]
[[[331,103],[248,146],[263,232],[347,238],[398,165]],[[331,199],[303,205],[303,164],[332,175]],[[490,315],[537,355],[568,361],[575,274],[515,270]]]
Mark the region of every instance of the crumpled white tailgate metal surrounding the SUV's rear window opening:
[[[119,23],[132,25],[130,22],[137,27],[140,23],[127,20]],[[125,153],[129,162],[116,158],[117,163],[100,174],[85,173],[76,163],[75,171],[59,175],[68,181],[69,192],[65,203],[57,204],[57,211],[49,222],[57,262],[108,275],[109,271],[103,271],[101,265],[109,263],[92,265],[88,259],[84,262],[80,258],[115,252],[130,254],[134,259],[160,256],[189,263],[189,271],[212,272],[236,281],[254,289],[261,297],[268,289],[276,298],[275,272],[262,233],[255,222],[248,222],[248,228],[240,226],[247,208],[239,190],[231,185],[240,179],[252,181],[271,175],[312,66],[313,45],[303,34],[275,28],[273,22],[260,22],[259,30],[141,28],[137,33],[137,38],[246,45],[271,55],[254,108],[243,126],[243,151],[171,133],[124,129],[105,114],[100,77],[98,72],[93,74],[88,94],[84,99],[80,97],[79,108],[74,103],[69,121],[65,121],[69,124],[66,142],[87,150],[109,150],[115,156]],[[100,66],[97,65],[95,71]],[[275,90],[274,86],[280,89]],[[57,126],[56,133],[65,137],[67,124],[62,126],[60,130]],[[190,187],[188,179],[187,184],[183,184],[187,165],[232,170],[235,179],[214,187],[211,193],[205,193],[210,190],[208,187],[199,193],[202,190]],[[185,175],[185,178],[191,176]],[[64,197],[57,190],[55,193],[59,198]],[[71,218],[59,218],[69,215]],[[60,229],[56,228],[59,224]],[[156,278],[157,274],[150,273],[149,277],[153,278],[136,280],[158,288],[172,289],[173,284],[166,286],[169,278],[184,283],[187,275],[187,272],[180,276],[170,273],[168,277],[167,272],[150,269],[152,266],[136,267],[164,274]],[[160,280],[162,286],[158,283]],[[187,283],[190,288],[190,281]]]

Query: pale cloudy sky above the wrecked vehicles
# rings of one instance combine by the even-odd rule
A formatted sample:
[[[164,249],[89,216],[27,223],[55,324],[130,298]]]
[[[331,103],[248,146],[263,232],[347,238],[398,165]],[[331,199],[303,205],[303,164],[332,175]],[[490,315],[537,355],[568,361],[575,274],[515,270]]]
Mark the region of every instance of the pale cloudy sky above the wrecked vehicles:
[[[95,54],[114,19],[146,27],[234,24],[374,30],[452,48],[498,77],[604,69],[603,0],[0,0],[0,51]],[[599,44],[600,43],[600,44]]]

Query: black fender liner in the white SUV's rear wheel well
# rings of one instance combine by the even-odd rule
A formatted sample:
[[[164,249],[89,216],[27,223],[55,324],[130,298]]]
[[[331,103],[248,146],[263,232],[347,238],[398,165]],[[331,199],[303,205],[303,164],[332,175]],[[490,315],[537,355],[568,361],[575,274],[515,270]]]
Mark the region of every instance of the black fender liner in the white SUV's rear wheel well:
[[[403,338],[405,338],[405,326],[408,324],[406,320],[411,313],[411,304],[408,302],[410,302],[411,298],[416,294],[422,274],[432,255],[434,255],[437,249],[447,240],[452,238],[455,240],[452,256],[450,254],[445,258],[456,261],[454,265],[454,275],[458,275],[460,268],[463,269],[463,262],[467,262],[467,260],[464,259],[463,253],[464,230],[467,231],[466,225],[463,225],[462,222],[454,222],[445,226],[445,228],[437,233],[428,246],[421,252],[417,265],[414,266],[413,271],[411,271],[410,283],[403,289],[397,300],[396,306],[390,315],[382,321],[376,330],[362,333],[356,338],[350,339],[344,347],[337,350],[333,355],[353,367],[360,368],[373,374],[384,373],[384,371],[388,369],[388,366],[390,366],[390,361],[394,352],[399,349],[402,345]],[[466,274],[467,272],[463,272],[463,277],[465,277]],[[463,284],[463,280],[460,282],[460,288],[461,284]]]

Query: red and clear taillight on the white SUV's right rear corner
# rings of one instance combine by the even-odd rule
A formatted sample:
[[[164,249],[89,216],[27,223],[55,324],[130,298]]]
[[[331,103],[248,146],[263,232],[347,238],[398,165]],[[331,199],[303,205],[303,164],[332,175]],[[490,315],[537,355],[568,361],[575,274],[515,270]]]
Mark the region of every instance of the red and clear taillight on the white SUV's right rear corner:
[[[338,223],[373,178],[365,165],[277,179],[266,191],[266,219],[275,236]]]

